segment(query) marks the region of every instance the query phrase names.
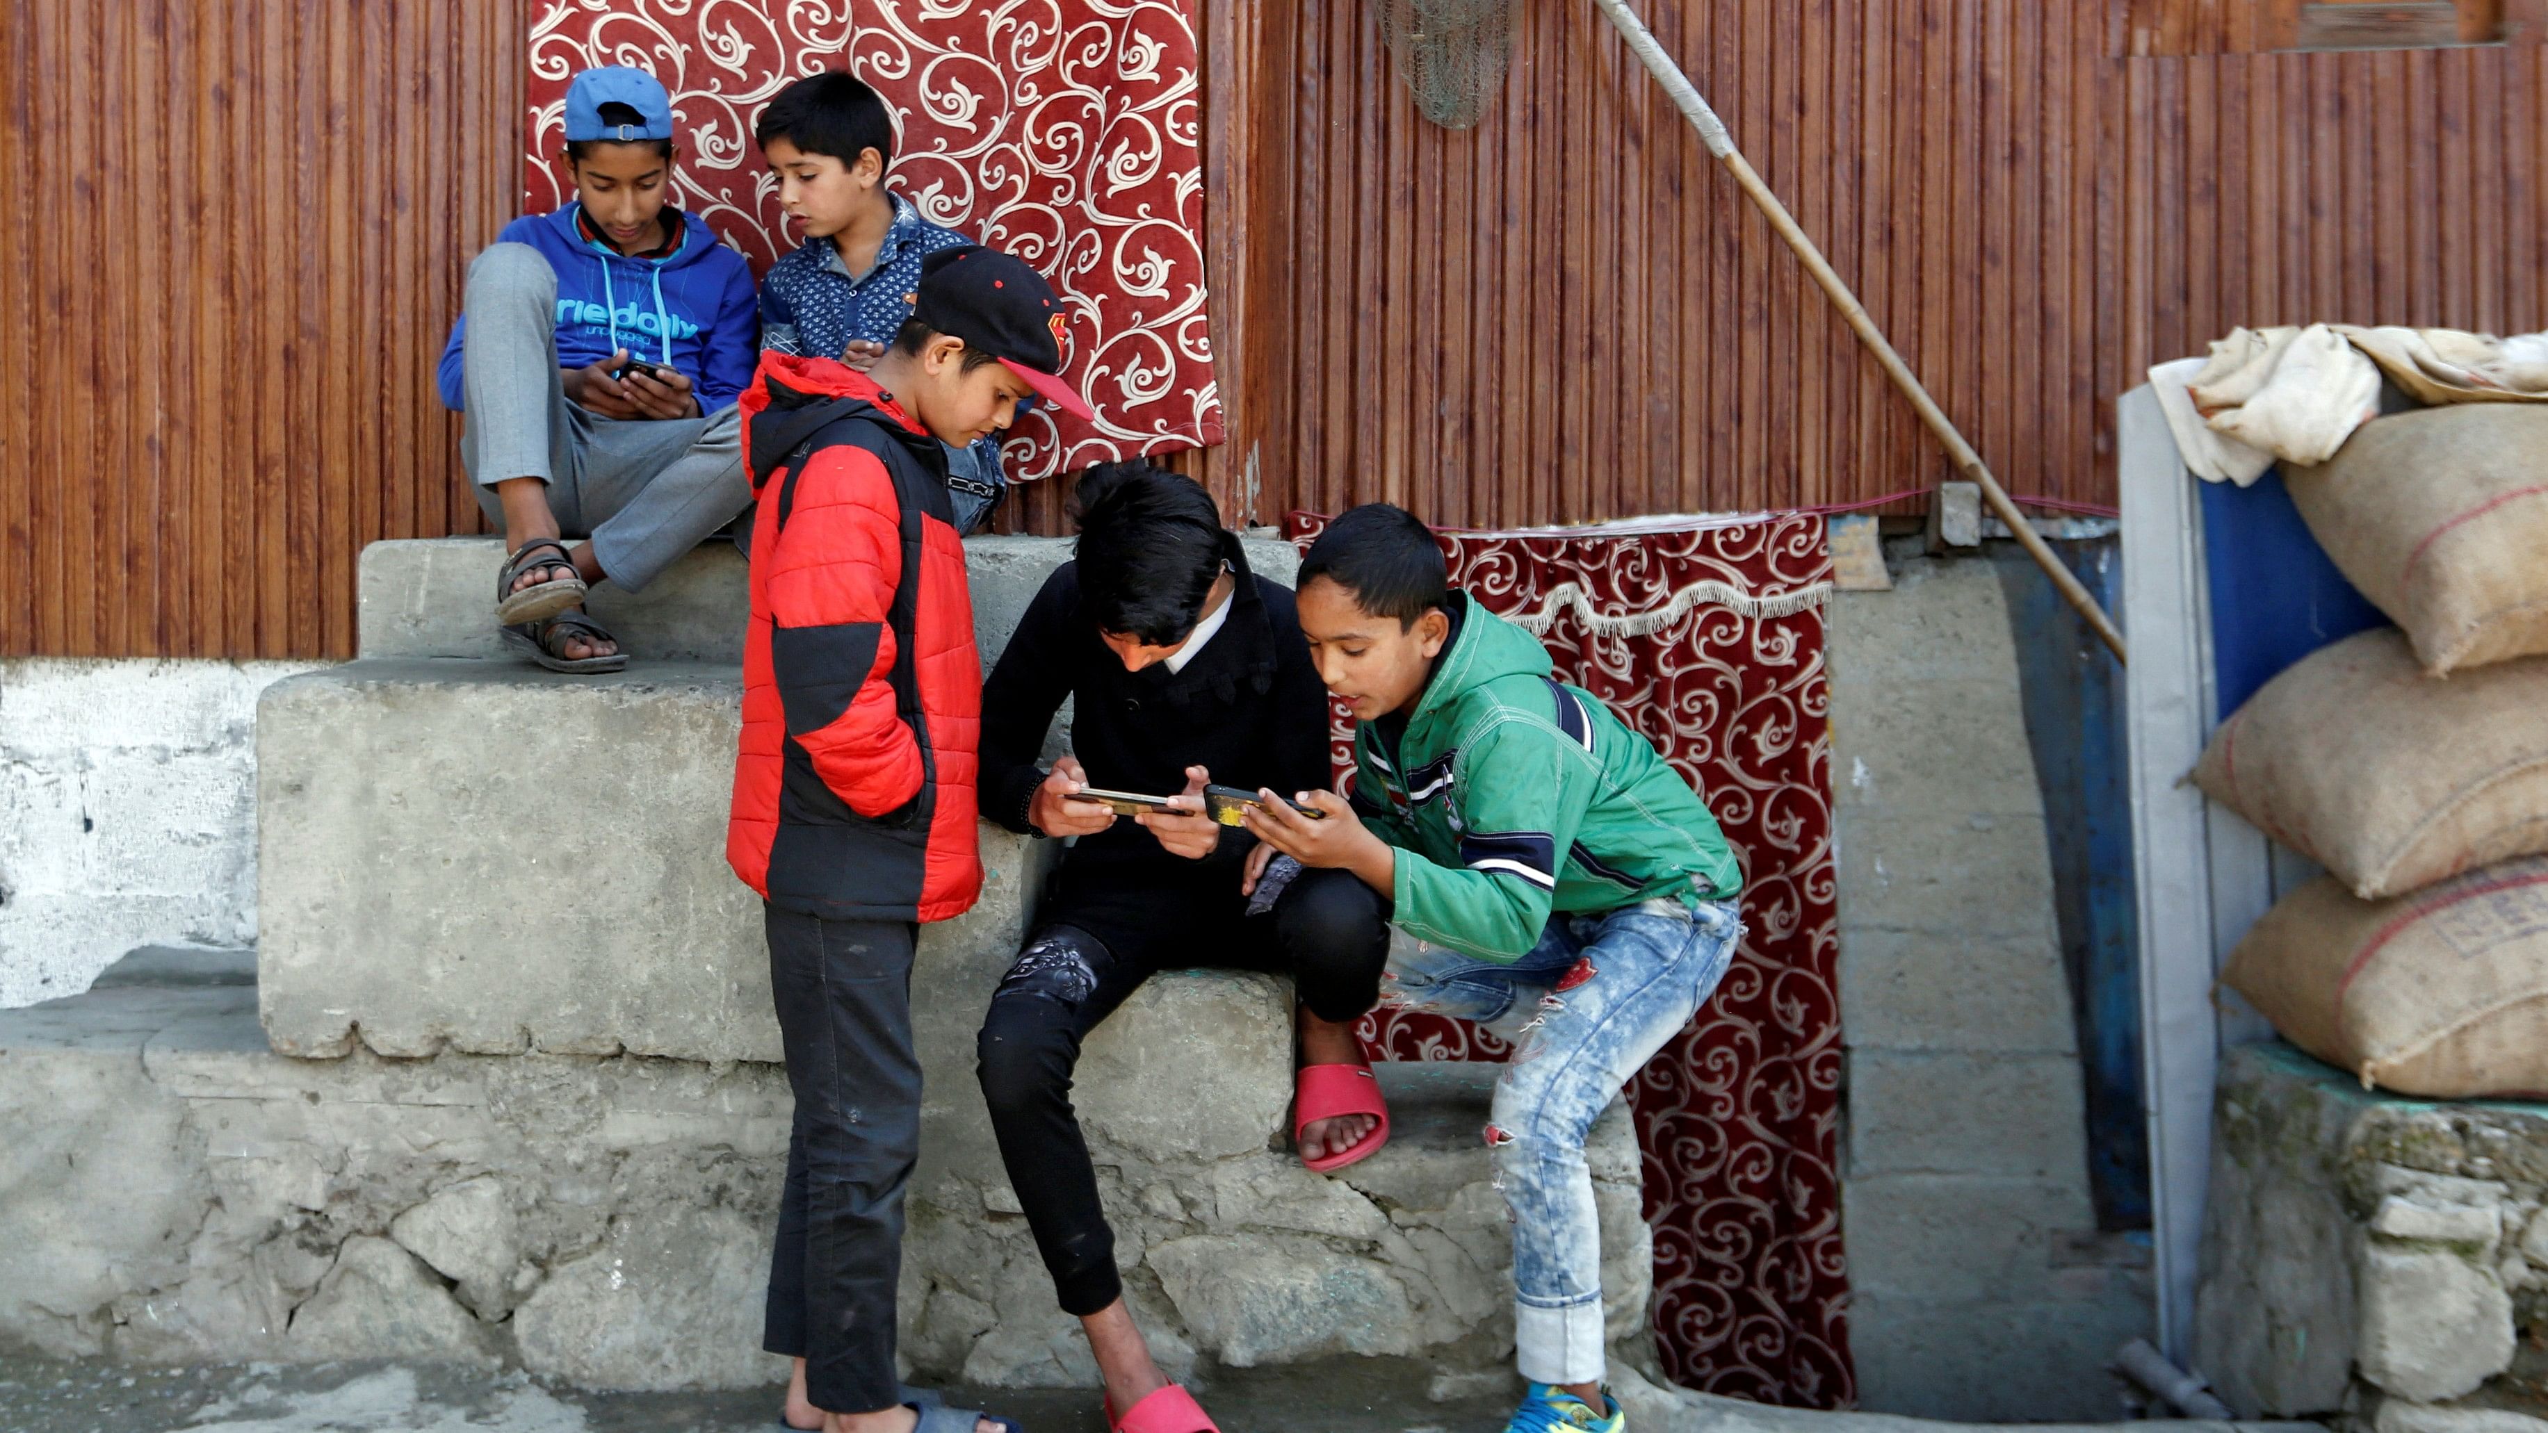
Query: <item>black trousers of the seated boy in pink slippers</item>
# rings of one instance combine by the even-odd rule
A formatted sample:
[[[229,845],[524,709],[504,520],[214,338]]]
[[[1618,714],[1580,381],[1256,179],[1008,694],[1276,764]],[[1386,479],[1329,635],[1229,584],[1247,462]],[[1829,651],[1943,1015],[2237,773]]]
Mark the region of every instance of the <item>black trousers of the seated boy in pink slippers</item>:
[[[1386,960],[1389,901],[1345,870],[1299,873],[1259,916],[1246,914],[1231,881],[1073,898],[1063,870],[1055,909],[991,995],[976,1072],[1009,1186],[1065,1313],[1088,1316],[1124,1296],[1113,1229],[1070,1107],[1088,1031],[1154,972],[1198,965],[1289,975],[1317,1018],[1353,1021],[1378,1000]]]

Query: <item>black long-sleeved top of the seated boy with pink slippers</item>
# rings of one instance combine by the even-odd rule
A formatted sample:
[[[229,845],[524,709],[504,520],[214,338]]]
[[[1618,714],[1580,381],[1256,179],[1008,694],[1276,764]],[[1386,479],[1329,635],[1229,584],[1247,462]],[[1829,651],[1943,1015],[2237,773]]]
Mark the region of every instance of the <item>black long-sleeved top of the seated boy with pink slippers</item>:
[[[1045,728],[1073,697],[1070,753],[1091,786],[1172,797],[1187,766],[1208,766],[1220,786],[1271,786],[1292,794],[1328,786],[1328,690],[1310,667],[1292,588],[1249,573],[1238,537],[1223,535],[1238,578],[1231,616],[1185,664],[1126,672],[1080,611],[1078,563],[1063,563],[1034,593],[981,690],[981,814],[1024,832],[1027,804],[1045,769]],[[1075,870],[1198,876],[1246,855],[1256,837],[1228,830],[1205,860],[1170,855],[1154,835],[1119,820],[1080,837]],[[1228,876],[1236,881],[1236,873]]]

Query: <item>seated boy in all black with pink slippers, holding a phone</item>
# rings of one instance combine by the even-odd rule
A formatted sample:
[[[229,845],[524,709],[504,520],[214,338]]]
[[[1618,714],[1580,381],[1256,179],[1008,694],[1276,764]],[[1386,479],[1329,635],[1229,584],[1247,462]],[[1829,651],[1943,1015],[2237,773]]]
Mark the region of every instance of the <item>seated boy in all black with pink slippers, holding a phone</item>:
[[[1389,901],[1345,870],[1269,865],[1271,850],[1205,814],[1205,784],[1328,786],[1328,695],[1292,591],[1249,573],[1192,479],[1124,463],[1075,494],[1078,560],[1037,593],[984,685],[981,814],[1078,837],[1027,949],[981,1028],[981,1089],[1009,1184],[1055,1293],[1106,1374],[1108,1423],[1213,1423],[1149,1357],[1124,1306],[1113,1234],[1070,1110],[1080,1041],[1152,972],[1231,965],[1299,988],[1294,1135],[1310,1168],[1381,1148],[1386,1110],[1353,1023],[1378,998]],[[1042,769],[1045,728],[1075,697],[1070,756]],[[1083,786],[1175,794],[1119,820]]]

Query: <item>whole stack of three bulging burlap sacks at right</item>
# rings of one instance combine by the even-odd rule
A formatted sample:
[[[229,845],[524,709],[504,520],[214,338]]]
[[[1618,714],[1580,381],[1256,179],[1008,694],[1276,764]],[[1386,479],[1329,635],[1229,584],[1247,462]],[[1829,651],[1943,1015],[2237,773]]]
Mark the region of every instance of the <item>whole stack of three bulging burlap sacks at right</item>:
[[[2222,980],[2365,1084],[2548,1094],[2548,407],[2380,417],[2283,484],[2398,629],[2314,652],[2204,748],[2212,799],[2329,870]]]

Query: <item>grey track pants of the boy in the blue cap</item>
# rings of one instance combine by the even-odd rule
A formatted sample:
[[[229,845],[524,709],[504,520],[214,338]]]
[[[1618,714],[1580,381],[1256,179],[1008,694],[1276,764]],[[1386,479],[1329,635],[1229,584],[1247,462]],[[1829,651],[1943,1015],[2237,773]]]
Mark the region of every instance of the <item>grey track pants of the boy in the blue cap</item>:
[[[489,522],[505,522],[494,484],[540,479],[558,529],[591,537],[609,580],[640,591],[752,504],[731,402],[706,417],[617,420],[566,397],[558,275],[540,249],[489,244],[469,262],[461,303],[461,466]]]

